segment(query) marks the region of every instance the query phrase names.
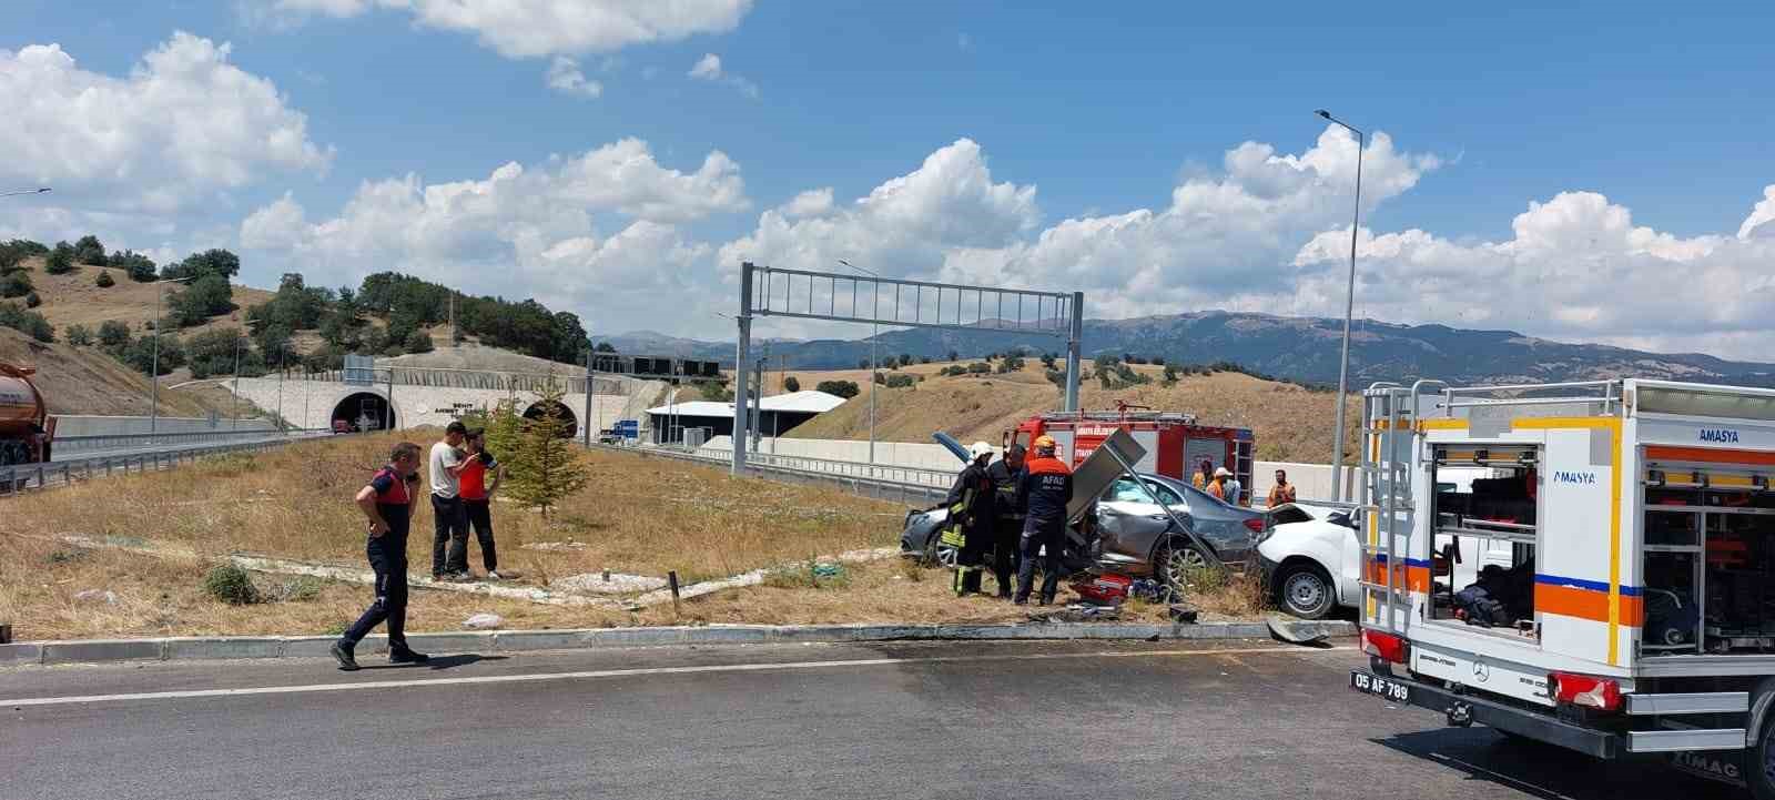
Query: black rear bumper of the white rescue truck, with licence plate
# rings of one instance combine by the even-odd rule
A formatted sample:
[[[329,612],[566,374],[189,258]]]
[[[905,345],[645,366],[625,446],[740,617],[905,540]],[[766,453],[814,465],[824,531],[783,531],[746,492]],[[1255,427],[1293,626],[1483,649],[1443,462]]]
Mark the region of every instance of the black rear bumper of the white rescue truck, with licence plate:
[[[1440,711],[1450,725],[1464,727],[1480,724],[1537,741],[1546,741],[1550,745],[1558,745],[1567,750],[1578,750],[1599,759],[1612,759],[1626,752],[1619,734],[1573,725],[1550,713],[1537,713],[1484,697],[1456,694],[1411,678],[1354,669],[1349,672],[1349,686],[1354,692],[1372,694],[1400,706],[1418,706]]]

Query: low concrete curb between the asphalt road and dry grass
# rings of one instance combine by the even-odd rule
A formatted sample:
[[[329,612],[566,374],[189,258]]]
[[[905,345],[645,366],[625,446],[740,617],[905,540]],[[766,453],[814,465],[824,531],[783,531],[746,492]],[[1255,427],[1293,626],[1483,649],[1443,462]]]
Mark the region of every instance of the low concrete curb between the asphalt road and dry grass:
[[[1296,623],[1296,626],[1306,635],[1356,635],[1354,623]],[[430,653],[527,653],[682,644],[1269,639],[1269,626],[1264,623],[710,624],[414,633],[406,639],[415,649]],[[190,637],[0,644],[0,667],[18,663],[327,658],[327,647],[334,640],[335,637]],[[387,649],[385,637],[369,637],[359,644],[359,655],[385,653]]]

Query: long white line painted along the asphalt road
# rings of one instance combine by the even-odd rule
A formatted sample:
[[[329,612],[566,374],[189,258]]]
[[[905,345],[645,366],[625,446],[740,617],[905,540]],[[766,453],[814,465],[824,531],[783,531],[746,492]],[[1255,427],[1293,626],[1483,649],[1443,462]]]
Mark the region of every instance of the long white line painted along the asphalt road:
[[[854,658],[843,662],[781,662],[781,663],[715,663],[701,667],[643,667],[643,669],[595,669],[582,672],[532,672],[517,676],[477,676],[477,678],[419,678],[410,681],[357,681],[357,683],[309,683],[296,686],[248,686],[248,688],[202,688],[188,692],[133,692],[71,697],[21,697],[0,701],[0,708],[25,706],[75,706],[91,702],[124,701],[176,701],[193,697],[247,697],[272,694],[309,694],[309,692],[355,692],[366,688],[412,688],[412,686],[463,686],[483,683],[534,683],[534,681],[575,681],[598,678],[639,678],[639,676],[676,676],[703,672],[777,672],[792,669],[838,669],[838,667],[888,667],[895,663],[957,663],[957,662],[1037,662],[1061,658],[1154,658],[1154,656],[1219,656],[1228,653],[1283,653],[1317,655],[1349,651],[1354,647],[1324,647],[1312,651],[1282,647],[1228,647],[1228,649],[1159,649],[1159,651],[1099,651],[1099,653],[1024,653],[1001,656],[934,656],[934,658]]]

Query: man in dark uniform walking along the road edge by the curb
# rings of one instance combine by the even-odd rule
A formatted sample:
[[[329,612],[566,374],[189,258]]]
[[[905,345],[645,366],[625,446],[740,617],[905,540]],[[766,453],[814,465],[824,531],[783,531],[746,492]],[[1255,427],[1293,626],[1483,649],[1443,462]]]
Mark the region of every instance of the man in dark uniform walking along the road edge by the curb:
[[[332,646],[339,669],[355,671],[357,642],[371,628],[389,624],[389,662],[426,663],[430,656],[406,646],[406,529],[419,497],[419,445],[394,445],[389,465],[357,491],[357,507],[369,520],[369,568],[376,573],[376,600]]]

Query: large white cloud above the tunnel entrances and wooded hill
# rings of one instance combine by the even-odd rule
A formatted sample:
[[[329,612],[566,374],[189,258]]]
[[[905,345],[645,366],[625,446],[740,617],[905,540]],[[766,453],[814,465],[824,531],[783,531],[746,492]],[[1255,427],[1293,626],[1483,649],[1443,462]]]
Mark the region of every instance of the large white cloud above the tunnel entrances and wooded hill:
[[[719,151],[696,172],[682,172],[659,165],[646,142],[627,138],[531,169],[508,163],[477,181],[364,183],[325,220],[311,220],[284,197],[247,216],[240,241],[321,284],[405,270],[550,307],[632,296],[623,309],[641,321],[696,278],[692,266],[706,268],[712,248],[687,241],[678,224],[744,208],[738,165]],[[600,234],[616,215],[630,220]],[[701,277],[712,278],[706,270]]]

